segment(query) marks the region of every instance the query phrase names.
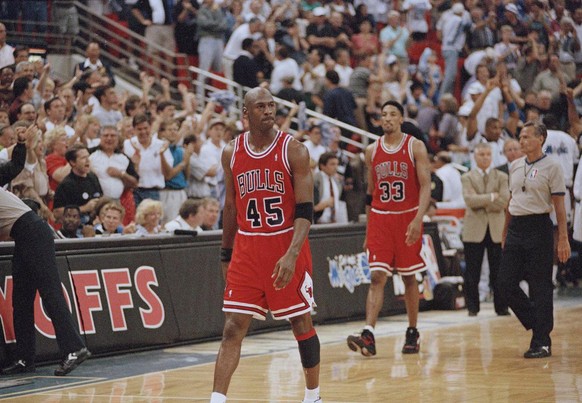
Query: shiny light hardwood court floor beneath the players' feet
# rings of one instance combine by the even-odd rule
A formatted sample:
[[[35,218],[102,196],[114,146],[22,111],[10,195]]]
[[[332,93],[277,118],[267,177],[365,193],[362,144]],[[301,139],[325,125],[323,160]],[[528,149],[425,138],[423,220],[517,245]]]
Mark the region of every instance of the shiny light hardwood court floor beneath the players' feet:
[[[404,315],[381,319],[378,355],[373,358],[353,353],[345,344],[346,336],[363,322],[319,326],[324,401],[582,401],[581,297],[556,301],[553,356],[537,360],[522,358],[530,333],[515,316],[497,317],[491,304],[484,305],[476,318],[469,318],[466,311],[422,312],[418,355],[400,352]],[[115,380],[70,377],[83,385],[36,389],[35,394],[7,399],[27,403],[208,401],[217,348],[218,342],[211,342],[165,350],[184,361],[179,369],[156,371],[156,363],[151,362],[145,375]],[[191,359],[188,363],[193,354],[205,356],[206,363],[191,365]],[[97,368],[101,360],[106,359],[87,364]],[[126,362],[131,365],[131,358]],[[303,375],[291,332],[247,338],[228,401],[300,402],[302,397]]]

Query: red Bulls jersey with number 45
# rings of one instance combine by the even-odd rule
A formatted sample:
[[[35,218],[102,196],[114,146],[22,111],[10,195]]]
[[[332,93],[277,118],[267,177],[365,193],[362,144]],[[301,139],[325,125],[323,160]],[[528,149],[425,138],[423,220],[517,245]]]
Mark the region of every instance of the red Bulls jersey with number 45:
[[[295,193],[287,147],[293,139],[277,132],[273,143],[260,153],[249,145],[248,132],[235,141],[230,162],[236,191],[239,232],[275,233],[293,227]]]

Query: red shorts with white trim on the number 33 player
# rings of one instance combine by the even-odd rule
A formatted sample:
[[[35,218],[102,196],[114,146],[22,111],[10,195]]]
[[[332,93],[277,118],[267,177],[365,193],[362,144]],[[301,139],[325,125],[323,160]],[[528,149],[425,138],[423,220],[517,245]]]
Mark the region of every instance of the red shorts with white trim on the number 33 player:
[[[386,214],[379,210],[370,211],[366,234],[370,271],[381,270],[389,275],[396,271],[409,276],[426,270],[420,256],[422,236],[414,244],[406,245],[406,230],[416,212]]]

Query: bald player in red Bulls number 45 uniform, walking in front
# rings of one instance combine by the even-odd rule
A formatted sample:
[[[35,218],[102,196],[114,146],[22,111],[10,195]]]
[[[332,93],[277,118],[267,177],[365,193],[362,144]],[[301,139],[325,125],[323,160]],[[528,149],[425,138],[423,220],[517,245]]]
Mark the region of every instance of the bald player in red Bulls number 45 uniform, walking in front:
[[[222,153],[226,184],[221,261],[225,324],[211,403],[225,402],[251,319],[288,319],[305,375],[303,402],[319,397],[319,339],[311,321],[313,283],[307,235],[313,177],[307,148],[273,128],[276,105],[263,88],[244,99],[249,131]]]

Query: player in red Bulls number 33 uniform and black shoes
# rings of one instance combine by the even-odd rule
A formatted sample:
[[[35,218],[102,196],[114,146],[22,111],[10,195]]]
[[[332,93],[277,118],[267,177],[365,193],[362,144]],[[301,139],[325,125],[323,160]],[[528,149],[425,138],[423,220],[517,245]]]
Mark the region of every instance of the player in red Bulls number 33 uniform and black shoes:
[[[382,105],[384,135],[366,148],[368,192],[366,213],[372,282],[366,300],[366,326],[361,334],[348,337],[353,351],[376,355],[374,327],[384,302],[384,286],[394,272],[402,276],[408,329],[402,352],[418,353],[418,284],[415,274],[426,270],[420,256],[422,218],[430,202],[430,163],[426,147],[402,133],[403,108],[398,102]]]

